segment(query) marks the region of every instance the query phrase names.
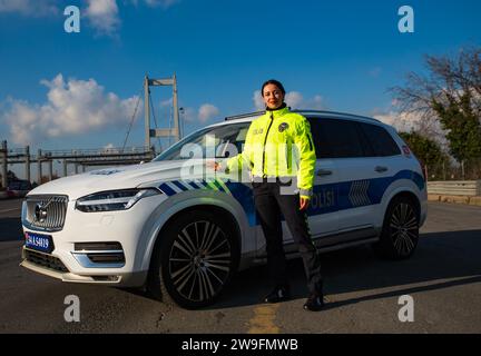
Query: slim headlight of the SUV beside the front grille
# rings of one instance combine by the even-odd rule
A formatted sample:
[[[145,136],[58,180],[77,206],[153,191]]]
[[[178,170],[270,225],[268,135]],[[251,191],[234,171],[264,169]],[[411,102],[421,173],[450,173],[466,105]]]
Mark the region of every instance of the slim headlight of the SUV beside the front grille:
[[[84,212],[127,210],[140,199],[159,194],[161,192],[157,189],[100,191],[79,198],[76,202],[76,208]]]

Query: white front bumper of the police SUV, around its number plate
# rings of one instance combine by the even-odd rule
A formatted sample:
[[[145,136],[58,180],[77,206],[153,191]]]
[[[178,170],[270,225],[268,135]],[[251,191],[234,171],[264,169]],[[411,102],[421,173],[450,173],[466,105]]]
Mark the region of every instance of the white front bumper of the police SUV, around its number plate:
[[[148,273],[148,263],[144,259],[151,239],[149,217],[164,199],[163,196],[153,196],[128,210],[108,212],[82,212],[75,209],[75,201],[69,201],[60,231],[39,231],[23,226],[26,233],[50,235],[55,249],[45,254],[23,247],[20,266],[68,283],[143,286]],[[117,244],[124,260],[98,263],[89,259],[92,251],[84,247],[79,250],[78,246],[92,244]],[[119,250],[101,253],[108,258],[115,253],[118,255]]]

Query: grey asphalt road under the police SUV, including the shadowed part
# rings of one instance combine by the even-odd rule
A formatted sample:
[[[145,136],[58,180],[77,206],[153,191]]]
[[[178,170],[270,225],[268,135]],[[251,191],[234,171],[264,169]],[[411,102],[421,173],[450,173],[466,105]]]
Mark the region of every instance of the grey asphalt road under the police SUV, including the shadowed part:
[[[0,200],[0,333],[481,333],[481,208],[430,202],[414,256],[379,260],[367,246],[322,255],[328,306],[302,309],[301,260],[289,261],[294,298],[264,305],[264,267],[238,274],[203,310],[169,308],[132,290],[62,284],[19,267],[21,200]],[[66,296],[80,322],[66,323]],[[413,322],[401,323],[402,295]]]

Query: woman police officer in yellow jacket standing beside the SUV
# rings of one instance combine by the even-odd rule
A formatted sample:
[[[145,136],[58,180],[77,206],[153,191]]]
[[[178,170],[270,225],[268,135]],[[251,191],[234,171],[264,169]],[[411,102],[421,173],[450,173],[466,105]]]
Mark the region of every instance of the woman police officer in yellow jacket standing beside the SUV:
[[[240,155],[227,160],[227,171],[251,169],[257,216],[266,239],[267,266],[274,289],[266,303],[278,303],[291,297],[286,277],[281,214],[298,246],[307,277],[307,310],[320,310],[323,305],[321,261],[311,239],[306,209],[312,196],[315,149],[308,121],[291,112],[284,102],[285,90],[277,80],[262,86],[266,112],[249,127]],[[293,186],[294,185],[294,186]],[[289,188],[294,189],[289,189]]]

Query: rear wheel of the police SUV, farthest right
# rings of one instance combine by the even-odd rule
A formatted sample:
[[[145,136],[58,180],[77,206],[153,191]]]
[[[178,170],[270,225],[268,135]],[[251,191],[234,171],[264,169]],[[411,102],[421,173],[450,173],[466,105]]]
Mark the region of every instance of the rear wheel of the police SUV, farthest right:
[[[382,258],[408,259],[419,240],[419,209],[408,197],[394,198],[384,216],[380,241],[373,245]]]

